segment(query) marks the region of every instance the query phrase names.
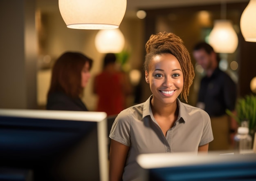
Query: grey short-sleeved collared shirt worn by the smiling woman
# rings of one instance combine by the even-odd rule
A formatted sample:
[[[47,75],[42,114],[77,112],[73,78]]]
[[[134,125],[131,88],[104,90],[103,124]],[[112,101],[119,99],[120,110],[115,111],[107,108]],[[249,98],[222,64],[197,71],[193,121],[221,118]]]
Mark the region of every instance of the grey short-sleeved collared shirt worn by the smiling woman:
[[[209,115],[202,109],[177,99],[179,115],[173,127],[163,134],[150,107],[152,96],[144,103],[129,107],[115,119],[109,137],[129,146],[123,179],[137,177],[138,154],[165,152],[197,152],[198,146],[213,141]]]

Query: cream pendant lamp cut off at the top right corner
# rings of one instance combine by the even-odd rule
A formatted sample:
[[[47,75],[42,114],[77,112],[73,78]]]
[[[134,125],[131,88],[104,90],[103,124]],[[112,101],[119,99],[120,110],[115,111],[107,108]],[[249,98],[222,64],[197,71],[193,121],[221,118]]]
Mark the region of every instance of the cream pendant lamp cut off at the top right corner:
[[[240,19],[240,29],[245,41],[256,42],[256,0],[250,0]]]

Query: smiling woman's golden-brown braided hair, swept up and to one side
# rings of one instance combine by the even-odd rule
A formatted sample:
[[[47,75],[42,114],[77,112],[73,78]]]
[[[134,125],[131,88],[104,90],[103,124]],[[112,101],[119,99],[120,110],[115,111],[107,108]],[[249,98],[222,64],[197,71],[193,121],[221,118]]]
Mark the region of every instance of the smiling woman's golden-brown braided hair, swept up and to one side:
[[[193,83],[193,78],[195,76],[194,68],[191,63],[189,51],[183,44],[180,37],[173,33],[158,33],[150,36],[148,42],[145,45],[146,56],[144,62],[144,69],[148,72],[150,61],[156,55],[169,53],[177,58],[180,63],[183,77],[184,85],[181,92],[181,97],[188,102],[187,96],[189,95],[189,88]]]

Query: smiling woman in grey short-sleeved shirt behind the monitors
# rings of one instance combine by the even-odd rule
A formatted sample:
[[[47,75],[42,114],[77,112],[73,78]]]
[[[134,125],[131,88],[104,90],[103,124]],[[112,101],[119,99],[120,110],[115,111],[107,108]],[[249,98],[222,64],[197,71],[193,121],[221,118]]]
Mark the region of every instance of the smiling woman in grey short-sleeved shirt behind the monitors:
[[[119,113],[110,131],[110,181],[134,180],[144,153],[208,151],[213,140],[209,115],[187,102],[194,70],[182,40],[172,33],[150,36],[145,80],[151,95]]]

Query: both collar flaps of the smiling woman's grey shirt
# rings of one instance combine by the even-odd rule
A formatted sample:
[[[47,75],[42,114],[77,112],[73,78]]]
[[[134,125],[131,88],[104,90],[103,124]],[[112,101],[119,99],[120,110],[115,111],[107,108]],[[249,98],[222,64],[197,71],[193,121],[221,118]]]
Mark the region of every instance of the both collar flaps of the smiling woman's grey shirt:
[[[143,106],[143,113],[142,113],[142,117],[146,117],[146,116],[150,116],[153,119],[153,113],[152,113],[152,109],[150,106],[150,101],[153,98],[153,95],[151,95],[145,102],[144,102],[144,106]],[[180,120],[180,118],[182,118],[182,120],[184,122],[186,122],[186,120],[189,118],[188,113],[186,112],[184,103],[182,103],[180,101],[179,98],[177,98],[177,105],[179,107],[179,115],[177,120]]]

